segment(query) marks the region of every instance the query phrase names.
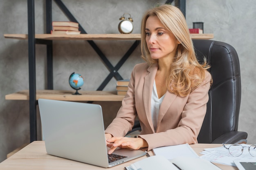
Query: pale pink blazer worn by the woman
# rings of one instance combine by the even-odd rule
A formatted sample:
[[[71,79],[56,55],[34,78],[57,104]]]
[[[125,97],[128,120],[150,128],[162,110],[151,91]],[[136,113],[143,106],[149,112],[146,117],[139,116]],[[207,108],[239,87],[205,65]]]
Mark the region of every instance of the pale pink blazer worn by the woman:
[[[125,136],[138,116],[141,124],[139,137],[146,140],[148,150],[160,146],[197,143],[209,100],[211,74],[207,72],[204,83],[186,97],[166,92],[155,131],[150,103],[157,68],[157,64],[151,67],[147,63],[135,65],[122,106],[105,133],[115,137]]]

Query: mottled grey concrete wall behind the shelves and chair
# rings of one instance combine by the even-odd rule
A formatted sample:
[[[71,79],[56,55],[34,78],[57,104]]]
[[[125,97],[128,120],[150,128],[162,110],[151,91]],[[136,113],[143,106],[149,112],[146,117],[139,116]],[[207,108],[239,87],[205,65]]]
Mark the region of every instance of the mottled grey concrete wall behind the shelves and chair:
[[[165,0],[63,0],[87,33],[119,33],[117,26],[123,13],[130,13],[134,31],[140,33],[140,21],[144,11]],[[237,50],[242,76],[242,102],[239,130],[247,131],[248,143],[256,143],[256,65],[254,22],[255,0],[186,0],[186,19],[204,22],[204,33],[214,33],[214,40],[224,41]],[[67,20],[55,2],[52,3],[53,20]],[[36,33],[45,33],[45,1],[35,2]],[[3,34],[27,34],[27,0],[1,0],[0,2],[0,162],[7,153],[29,142],[29,102],[5,100],[5,95],[28,89],[27,40],[4,39]],[[103,54],[116,65],[133,41],[95,41]],[[46,48],[36,45],[36,88],[46,88]],[[96,90],[109,74],[96,52],[87,41],[54,41],[54,89],[72,90],[68,77],[72,72],[85,78],[82,90]],[[137,48],[119,70],[123,78],[129,78],[136,63],[140,63]],[[115,90],[112,78],[104,90]],[[121,102],[97,102],[103,107],[105,126],[115,117]],[[38,139],[40,119],[38,115]]]

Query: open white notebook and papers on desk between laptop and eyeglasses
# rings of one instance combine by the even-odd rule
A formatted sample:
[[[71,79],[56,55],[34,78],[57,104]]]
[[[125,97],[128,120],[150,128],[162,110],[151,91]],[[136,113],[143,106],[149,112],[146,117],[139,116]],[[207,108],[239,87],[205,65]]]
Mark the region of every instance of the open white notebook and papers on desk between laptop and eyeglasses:
[[[155,156],[137,161],[126,170],[221,170],[200,159],[189,144],[154,148],[153,152]]]

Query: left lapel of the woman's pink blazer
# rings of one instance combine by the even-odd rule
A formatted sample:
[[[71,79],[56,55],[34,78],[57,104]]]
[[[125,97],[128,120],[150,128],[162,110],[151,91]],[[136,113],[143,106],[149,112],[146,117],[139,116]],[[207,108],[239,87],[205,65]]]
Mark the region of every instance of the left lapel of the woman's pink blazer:
[[[152,65],[151,67],[148,68],[148,74],[144,77],[144,88],[143,88],[143,101],[145,106],[146,117],[148,119],[148,123],[153,132],[155,132],[155,130],[154,130],[153,121],[151,118],[151,95],[153,90],[153,83],[155,80],[155,74],[157,73],[157,68],[158,68],[157,64]]]

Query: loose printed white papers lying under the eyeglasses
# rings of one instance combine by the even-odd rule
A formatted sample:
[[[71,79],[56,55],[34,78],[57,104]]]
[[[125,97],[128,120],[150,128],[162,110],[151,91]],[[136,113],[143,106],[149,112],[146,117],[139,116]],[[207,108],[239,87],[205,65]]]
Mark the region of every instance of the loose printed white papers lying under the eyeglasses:
[[[230,145],[226,145],[227,148],[229,148]],[[250,145],[247,144],[242,144],[242,146],[247,146],[249,147]],[[240,155],[239,157],[234,157],[230,155],[229,150],[224,148],[223,146],[217,147],[217,148],[205,148],[200,156],[202,159],[206,159],[211,162],[215,163],[220,163],[224,165],[229,165],[229,166],[236,166],[234,161],[247,161],[247,162],[255,162],[256,157],[252,157],[252,155],[249,154],[248,148],[244,148],[243,154]],[[241,151],[238,151],[241,152]]]

